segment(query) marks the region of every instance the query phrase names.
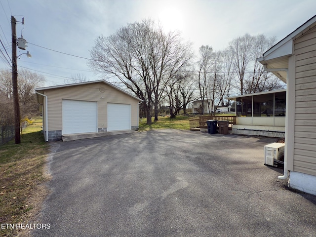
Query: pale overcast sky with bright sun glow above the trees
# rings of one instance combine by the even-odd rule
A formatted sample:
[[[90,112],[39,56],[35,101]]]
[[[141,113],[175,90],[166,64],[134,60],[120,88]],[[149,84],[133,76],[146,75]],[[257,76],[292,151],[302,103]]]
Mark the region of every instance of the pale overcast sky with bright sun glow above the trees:
[[[0,0],[0,40],[11,57],[11,15],[17,37],[27,40],[32,58],[19,67],[45,76],[43,86],[64,84],[73,75],[101,79],[86,59],[99,35],[110,36],[127,23],[151,18],[165,30],[180,30],[194,49],[223,50],[239,36],[264,34],[282,40],[316,14],[315,0]],[[36,45],[39,46],[36,46]],[[68,56],[48,49],[76,55]],[[6,55],[2,45],[1,51]],[[26,53],[18,49],[17,55]],[[0,52],[0,69],[10,69]]]

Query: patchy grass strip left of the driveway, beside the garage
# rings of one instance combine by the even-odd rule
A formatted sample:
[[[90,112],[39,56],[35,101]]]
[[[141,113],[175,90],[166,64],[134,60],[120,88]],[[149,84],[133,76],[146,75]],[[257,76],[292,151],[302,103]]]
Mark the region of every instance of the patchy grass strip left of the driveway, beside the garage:
[[[43,185],[49,145],[42,135],[42,118],[23,130],[21,144],[14,139],[0,146],[0,224],[33,224],[47,191]],[[28,236],[28,230],[0,229],[0,236]]]

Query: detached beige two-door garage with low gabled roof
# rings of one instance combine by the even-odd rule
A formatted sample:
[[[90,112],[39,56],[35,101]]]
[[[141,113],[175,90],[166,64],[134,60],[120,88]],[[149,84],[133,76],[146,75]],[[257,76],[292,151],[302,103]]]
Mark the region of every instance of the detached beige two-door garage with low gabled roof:
[[[63,135],[138,129],[141,99],[105,81],[37,88],[45,141]]]

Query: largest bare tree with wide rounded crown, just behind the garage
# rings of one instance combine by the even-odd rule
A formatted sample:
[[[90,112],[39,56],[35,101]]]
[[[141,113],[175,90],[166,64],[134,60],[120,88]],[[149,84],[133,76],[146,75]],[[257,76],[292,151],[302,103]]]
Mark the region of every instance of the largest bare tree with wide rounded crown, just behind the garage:
[[[168,80],[192,57],[191,44],[183,44],[178,33],[164,34],[152,20],[127,24],[110,37],[99,36],[90,53],[92,70],[114,76],[145,101],[147,124],[152,122],[152,105],[158,119]]]

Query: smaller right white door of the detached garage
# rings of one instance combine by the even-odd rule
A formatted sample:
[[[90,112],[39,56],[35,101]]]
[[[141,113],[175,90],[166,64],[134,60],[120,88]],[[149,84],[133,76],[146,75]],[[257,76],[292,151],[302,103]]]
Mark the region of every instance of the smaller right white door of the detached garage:
[[[108,104],[108,131],[130,130],[130,105]]]

